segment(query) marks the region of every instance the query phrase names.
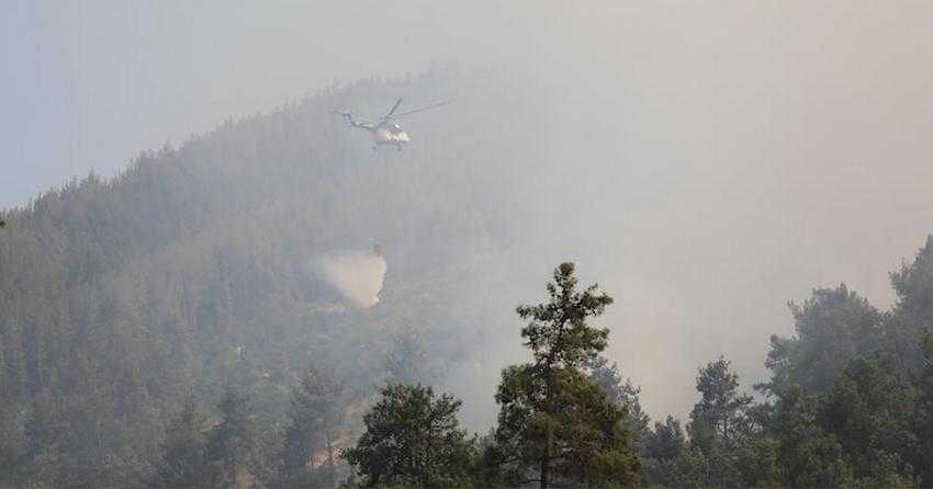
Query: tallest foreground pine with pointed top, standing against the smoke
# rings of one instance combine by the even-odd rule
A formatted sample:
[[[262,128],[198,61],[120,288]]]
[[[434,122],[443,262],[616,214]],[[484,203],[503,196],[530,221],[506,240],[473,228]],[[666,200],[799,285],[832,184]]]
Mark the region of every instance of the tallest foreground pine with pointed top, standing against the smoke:
[[[577,291],[573,263],[562,263],[553,276],[548,303],[517,309],[529,321],[521,337],[532,361],[502,374],[488,458],[501,465],[507,485],[632,485],[639,462],[626,412],[585,372],[609,336],[586,320],[612,298],[596,285]]]

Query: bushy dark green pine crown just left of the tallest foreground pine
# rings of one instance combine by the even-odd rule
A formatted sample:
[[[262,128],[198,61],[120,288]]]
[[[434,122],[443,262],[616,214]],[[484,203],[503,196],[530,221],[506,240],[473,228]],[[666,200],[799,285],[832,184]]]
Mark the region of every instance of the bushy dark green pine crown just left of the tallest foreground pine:
[[[363,417],[366,432],[344,457],[363,487],[465,487],[475,447],[457,421],[461,401],[430,387],[394,384]]]

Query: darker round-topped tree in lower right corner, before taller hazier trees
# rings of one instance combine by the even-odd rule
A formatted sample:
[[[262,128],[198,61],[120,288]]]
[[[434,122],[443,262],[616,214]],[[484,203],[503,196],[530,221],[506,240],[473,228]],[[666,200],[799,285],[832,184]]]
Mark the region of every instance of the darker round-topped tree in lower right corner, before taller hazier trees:
[[[791,386],[775,405],[769,432],[784,484],[794,487],[917,487],[923,457],[911,421],[915,389],[890,365],[857,357],[829,393]]]

